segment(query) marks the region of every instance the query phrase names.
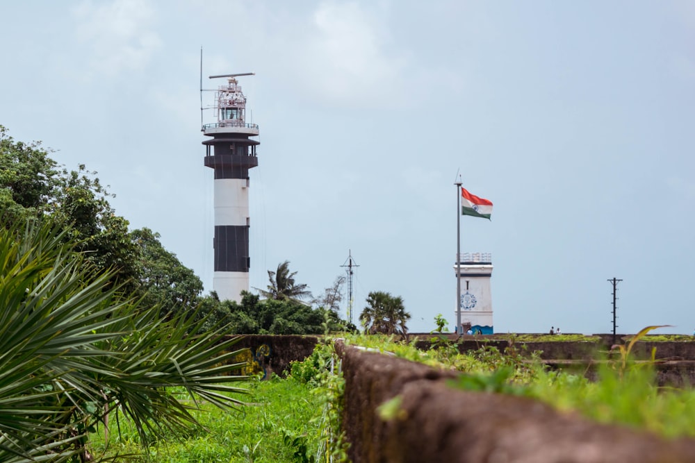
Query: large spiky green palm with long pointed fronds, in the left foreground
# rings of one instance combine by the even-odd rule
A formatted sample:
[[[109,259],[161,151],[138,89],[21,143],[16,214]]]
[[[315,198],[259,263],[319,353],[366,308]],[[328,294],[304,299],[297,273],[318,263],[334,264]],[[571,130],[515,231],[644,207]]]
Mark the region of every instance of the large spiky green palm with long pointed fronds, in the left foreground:
[[[238,339],[197,335],[204,319],[162,321],[158,307],[124,298],[65,233],[0,224],[0,461],[88,461],[88,431],[115,413],[145,443],[196,423],[195,400],[239,404],[220,384],[243,379],[229,376],[243,366],[229,362]]]

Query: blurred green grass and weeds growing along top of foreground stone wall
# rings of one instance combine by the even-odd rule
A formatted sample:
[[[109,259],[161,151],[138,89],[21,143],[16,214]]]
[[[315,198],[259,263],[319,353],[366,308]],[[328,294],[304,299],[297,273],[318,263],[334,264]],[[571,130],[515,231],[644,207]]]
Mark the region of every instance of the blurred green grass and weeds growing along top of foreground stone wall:
[[[509,335],[504,352],[494,346],[459,353],[457,342],[432,344],[419,351],[412,342],[395,342],[390,336],[347,336],[348,344],[357,344],[432,367],[455,369],[462,373],[451,387],[477,392],[527,396],[546,402],[558,410],[582,414],[601,423],[617,423],[650,430],[665,437],[695,437],[695,391],[691,387],[660,388],[655,383],[654,365],[632,359],[633,341],[648,338],[641,330],[623,346],[617,356],[599,362],[598,379],[582,374],[548,370],[539,353],[520,346]],[[384,416],[392,416],[398,400],[384,407]],[[395,404],[395,405],[394,405]]]

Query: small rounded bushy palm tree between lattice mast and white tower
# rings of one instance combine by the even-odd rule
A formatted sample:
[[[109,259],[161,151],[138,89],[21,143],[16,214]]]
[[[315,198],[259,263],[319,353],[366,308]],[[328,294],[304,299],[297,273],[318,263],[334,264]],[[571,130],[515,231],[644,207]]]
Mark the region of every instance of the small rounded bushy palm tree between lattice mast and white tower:
[[[367,304],[359,316],[366,332],[407,335],[408,328],[405,323],[410,319],[410,314],[405,311],[400,296],[394,297],[388,292],[373,291],[367,296]]]

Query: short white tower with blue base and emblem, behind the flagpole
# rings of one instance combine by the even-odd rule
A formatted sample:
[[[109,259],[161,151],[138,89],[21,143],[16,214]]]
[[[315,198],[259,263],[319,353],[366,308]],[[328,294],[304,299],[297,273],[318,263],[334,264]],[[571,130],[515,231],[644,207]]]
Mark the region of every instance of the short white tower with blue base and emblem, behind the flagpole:
[[[461,290],[458,307],[454,311],[461,326],[471,326],[473,332],[480,330],[484,335],[493,334],[492,292],[492,255],[490,253],[461,253],[457,256],[454,273],[459,278]],[[467,328],[466,328],[467,329]],[[457,327],[461,332],[461,327]],[[466,330],[463,331],[464,333]]]

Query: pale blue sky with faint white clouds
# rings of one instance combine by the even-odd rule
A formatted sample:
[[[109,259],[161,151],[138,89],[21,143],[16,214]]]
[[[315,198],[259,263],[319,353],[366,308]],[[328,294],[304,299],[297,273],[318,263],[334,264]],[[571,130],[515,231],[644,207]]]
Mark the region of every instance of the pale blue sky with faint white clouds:
[[[411,332],[439,313],[453,329],[459,174],[494,203],[461,217],[461,252],[492,254],[496,332],[611,332],[611,278],[618,332],[695,328],[693,2],[33,0],[0,17],[0,124],[97,171],[206,292],[201,48],[204,88],[256,73],[252,287],[288,260],[320,294],[352,253],[355,321],[384,291]]]

